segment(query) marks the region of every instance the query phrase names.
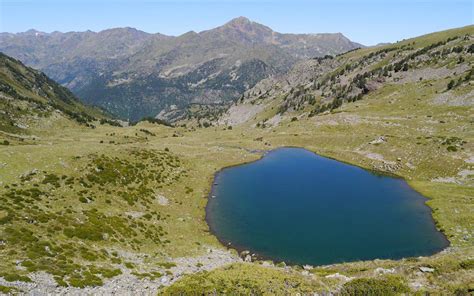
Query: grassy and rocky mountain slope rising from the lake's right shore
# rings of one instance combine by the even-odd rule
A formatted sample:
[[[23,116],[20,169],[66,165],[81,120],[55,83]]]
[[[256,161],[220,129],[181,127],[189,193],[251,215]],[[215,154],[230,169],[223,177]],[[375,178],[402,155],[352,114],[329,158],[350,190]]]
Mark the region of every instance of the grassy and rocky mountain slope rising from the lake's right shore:
[[[432,198],[450,242],[471,246],[459,229],[472,233],[473,40],[468,26],[305,61],[258,83],[217,123],[403,176]]]

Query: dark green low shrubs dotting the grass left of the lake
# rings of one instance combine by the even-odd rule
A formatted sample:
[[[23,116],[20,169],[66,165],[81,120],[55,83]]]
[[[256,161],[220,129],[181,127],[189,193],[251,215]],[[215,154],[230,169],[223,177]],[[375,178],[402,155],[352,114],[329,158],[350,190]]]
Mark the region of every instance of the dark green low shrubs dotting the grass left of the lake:
[[[184,175],[176,156],[131,150],[126,158],[93,154],[84,160],[75,173],[33,171],[22,175],[21,187],[0,191],[0,250],[8,254],[2,269],[11,270],[2,274],[5,280],[29,281],[26,273],[45,271],[62,286],[99,286],[121,273],[116,265],[122,260],[110,247],[139,251],[170,243],[161,222],[166,218],[151,206],[155,188]],[[122,204],[148,212],[139,219],[110,213]],[[17,260],[26,270],[16,269]]]

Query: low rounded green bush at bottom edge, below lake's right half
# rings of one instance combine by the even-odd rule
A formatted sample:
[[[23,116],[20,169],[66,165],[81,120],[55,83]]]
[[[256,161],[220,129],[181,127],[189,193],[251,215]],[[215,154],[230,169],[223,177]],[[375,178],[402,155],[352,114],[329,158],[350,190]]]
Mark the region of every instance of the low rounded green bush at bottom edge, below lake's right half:
[[[408,286],[397,277],[359,278],[344,284],[341,295],[398,295],[409,291]]]

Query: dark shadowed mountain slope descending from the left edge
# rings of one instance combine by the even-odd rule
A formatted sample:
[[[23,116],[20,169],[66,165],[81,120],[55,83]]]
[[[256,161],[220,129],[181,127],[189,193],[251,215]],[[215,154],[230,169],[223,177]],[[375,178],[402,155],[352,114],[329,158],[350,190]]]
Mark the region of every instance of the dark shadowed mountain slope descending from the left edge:
[[[90,125],[105,118],[101,110],[86,107],[67,88],[45,74],[0,53],[0,131],[27,134],[35,127],[63,121]]]

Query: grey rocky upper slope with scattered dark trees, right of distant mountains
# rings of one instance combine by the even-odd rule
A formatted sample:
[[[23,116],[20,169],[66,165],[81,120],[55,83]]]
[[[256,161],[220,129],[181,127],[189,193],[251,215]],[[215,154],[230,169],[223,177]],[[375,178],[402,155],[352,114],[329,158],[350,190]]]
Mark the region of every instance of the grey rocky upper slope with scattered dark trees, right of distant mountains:
[[[295,65],[282,77],[260,81],[220,120],[235,125],[280,123],[282,118],[312,117],[336,111],[388,86],[445,81],[433,104],[473,106],[474,27],[434,33],[396,44],[325,56]],[[451,82],[452,81],[452,82]],[[426,89],[425,89],[426,90]],[[251,114],[251,116],[247,116]]]

